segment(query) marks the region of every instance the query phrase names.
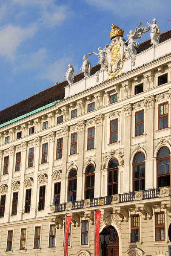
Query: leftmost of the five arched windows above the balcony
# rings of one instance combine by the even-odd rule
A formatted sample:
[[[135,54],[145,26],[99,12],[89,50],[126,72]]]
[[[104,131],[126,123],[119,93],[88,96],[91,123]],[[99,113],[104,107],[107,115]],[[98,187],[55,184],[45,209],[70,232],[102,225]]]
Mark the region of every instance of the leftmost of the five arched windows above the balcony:
[[[77,171],[71,170],[68,178],[68,200],[67,202],[76,201],[77,195]]]

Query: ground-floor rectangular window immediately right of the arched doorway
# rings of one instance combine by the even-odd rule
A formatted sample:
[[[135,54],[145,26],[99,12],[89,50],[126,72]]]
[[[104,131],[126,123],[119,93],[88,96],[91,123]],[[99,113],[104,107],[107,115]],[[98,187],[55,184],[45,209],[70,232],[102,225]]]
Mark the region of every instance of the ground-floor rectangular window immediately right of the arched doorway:
[[[131,215],[131,242],[140,241],[140,216]]]

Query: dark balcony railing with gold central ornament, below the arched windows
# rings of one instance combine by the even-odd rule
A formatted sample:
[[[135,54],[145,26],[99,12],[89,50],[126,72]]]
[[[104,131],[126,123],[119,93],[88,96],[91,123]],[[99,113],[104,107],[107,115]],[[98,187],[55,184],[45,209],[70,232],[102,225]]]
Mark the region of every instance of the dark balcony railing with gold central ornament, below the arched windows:
[[[160,188],[143,190],[141,193],[142,193],[142,200],[150,199],[150,198],[158,198],[160,196]],[[120,194],[119,195],[119,203],[134,201],[135,194],[136,194],[136,192]],[[104,197],[100,197],[100,198],[92,198],[92,199],[90,199],[89,207],[108,205],[108,204],[111,204],[112,200],[113,200],[112,195],[104,196]],[[73,201],[71,209],[81,209],[83,207],[84,207],[84,200]],[[65,210],[66,210],[66,203],[55,205],[55,212],[63,212]]]

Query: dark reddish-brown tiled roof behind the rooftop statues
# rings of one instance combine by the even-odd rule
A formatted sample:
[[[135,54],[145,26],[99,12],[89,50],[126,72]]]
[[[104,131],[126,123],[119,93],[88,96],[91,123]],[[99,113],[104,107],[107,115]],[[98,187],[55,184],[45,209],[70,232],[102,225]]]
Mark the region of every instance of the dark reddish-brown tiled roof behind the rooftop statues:
[[[171,38],[171,29],[160,34],[160,43]],[[140,47],[137,48],[137,52],[142,52],[145,49],[151,47],[150,39],[142,42]],[[94,75],[98,70],[100,70],[100,65],[97,64],[92,67],[91,75]],[[83,73],[79,73],[74,76],[74,83],[83,79]],[[57,99],[63,99],[65,93],[65,86],[68,82],[62,81],[55,84],[40,93],[34,94],[33,96],[23,99],[9,108],[5,108],[0,111],[0,124],[7,122],[17,116],[21,116],[24,113],[33,111],[34,109],[40,108],[48,103],[54,102]]]

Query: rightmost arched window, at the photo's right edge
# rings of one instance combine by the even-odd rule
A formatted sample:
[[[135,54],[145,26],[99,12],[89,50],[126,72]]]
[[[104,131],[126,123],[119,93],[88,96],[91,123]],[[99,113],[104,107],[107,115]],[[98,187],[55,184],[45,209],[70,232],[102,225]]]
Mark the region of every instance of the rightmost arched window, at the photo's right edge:
[[[170,152],[160,148],[157,154],[157,187],[170,186]]]

